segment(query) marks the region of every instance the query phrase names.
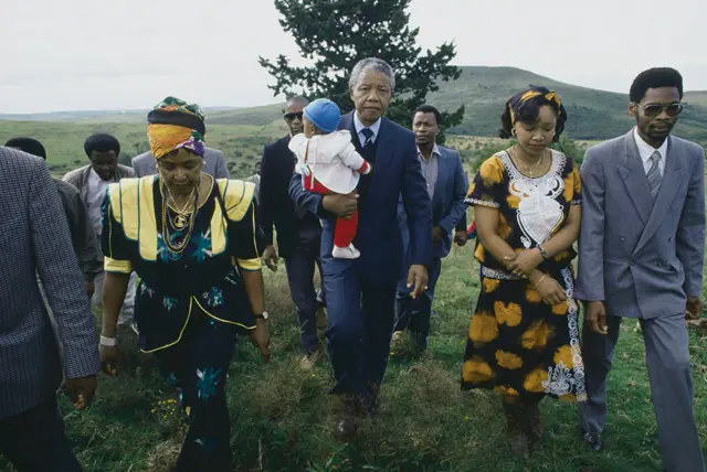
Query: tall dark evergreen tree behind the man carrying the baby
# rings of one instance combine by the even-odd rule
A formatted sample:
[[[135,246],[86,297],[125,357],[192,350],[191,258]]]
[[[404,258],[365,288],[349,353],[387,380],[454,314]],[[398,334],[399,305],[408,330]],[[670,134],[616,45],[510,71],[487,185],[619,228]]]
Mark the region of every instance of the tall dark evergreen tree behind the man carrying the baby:
[[[456,79],[462,71],[450,62],[456,55],[453,42],[435,52],[415,44],[419,29],[410,29],[407,12],[411,0],[275,0],[283,18],[279,24],[291,33],[299,54],[309,66],[291,66],[279,55],[260,63],[275,77],[268,87],[273,95],[304,94],[327,97],[342,111],[354,108],[349,97],[348,74],[366,57],[387,61],[395,71],[395,92],[388,110],[393,121],[410,128],[414,109],[425,103],[429,92],[439,89],[437,81]],[[464,118],[464,107],[442,111],[443,129]],[[439,142],[444,142],[444,132]]]

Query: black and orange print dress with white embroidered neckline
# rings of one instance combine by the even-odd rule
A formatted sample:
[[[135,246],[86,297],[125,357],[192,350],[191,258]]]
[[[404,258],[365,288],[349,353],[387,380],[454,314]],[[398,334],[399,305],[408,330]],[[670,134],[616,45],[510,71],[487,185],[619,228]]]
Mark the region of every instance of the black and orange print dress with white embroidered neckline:
[[[516,250],[550,239],[581,204],[581,181],[571,158],[552,151],[550,170],[524,175],[503,151],[485,161],[466,202],[497,208],[498,235]],[[567,301],[548,305],[527,279],[506,270],[477,240],[482,291],[468,332],[462,387],[494,389],[507,397],[544,396],[583,401],[584,368],[573,299],[572,248],[538,267],[564,288]]]

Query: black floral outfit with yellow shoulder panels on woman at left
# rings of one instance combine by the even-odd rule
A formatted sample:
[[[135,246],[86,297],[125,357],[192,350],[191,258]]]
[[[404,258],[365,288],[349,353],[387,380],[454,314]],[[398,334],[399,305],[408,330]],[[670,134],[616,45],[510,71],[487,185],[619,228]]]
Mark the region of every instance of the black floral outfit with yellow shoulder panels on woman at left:
[[[215,181],[191,230],[176,227],[159,178],[122,180],[104,202],[106,271],[140,277],[140,346],[155,353],[188,415],[177,471],[231,470],[224,386],[235,334],[255,328],[241,273],[261,270],[253,194],[251,183]]]

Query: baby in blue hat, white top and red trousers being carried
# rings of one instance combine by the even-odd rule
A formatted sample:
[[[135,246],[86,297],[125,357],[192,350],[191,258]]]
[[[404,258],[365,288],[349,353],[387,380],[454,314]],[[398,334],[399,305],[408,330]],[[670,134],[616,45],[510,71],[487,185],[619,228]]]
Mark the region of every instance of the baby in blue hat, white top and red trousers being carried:
[[[372,167],[351,143],[348,130],[337,130],[341,111],[331,100],[318,98],[304,109],[304,133],[289,140],[289,150],[297,157],[297,172],[308,192],[321,195],[355,194],[361,174]],[[350,219],[336,221],[333,257],[357,259],[361,253],[354,247],[358,227],[358,211]]]

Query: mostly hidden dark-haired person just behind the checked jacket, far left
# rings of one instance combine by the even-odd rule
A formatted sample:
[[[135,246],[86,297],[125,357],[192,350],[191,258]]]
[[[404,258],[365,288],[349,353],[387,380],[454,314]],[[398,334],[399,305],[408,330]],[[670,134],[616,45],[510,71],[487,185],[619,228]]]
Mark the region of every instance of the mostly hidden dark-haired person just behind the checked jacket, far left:
[[[36,155],[46,161],[46,150],[40,141],[33,138],[12,138],[4,144],[28,154]],[[73,243],[78,268],[84,275],[84,285],[88,298],[94,293],[94,279],[101,272],[98,255],[96,253],[96,235],[86,212],[86,205],[75,186],[61,179],[52,179],[62,199],[62,206],[68,222],[68,230]]]

